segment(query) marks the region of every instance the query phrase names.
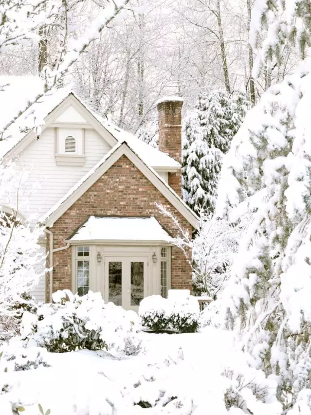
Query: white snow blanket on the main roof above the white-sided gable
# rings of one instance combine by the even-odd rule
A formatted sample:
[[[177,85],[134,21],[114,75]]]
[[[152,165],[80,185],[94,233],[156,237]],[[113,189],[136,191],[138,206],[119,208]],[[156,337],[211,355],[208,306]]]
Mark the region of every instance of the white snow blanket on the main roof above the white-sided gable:
[[[133,151],[149,166],[167,167],[168,170],[179,169],[180,163],[169,157],[162,151],[151,147],[139,140],[135,135],[114,126],[87,106],[70,88],[51,91],[41,96],[37,103],[31,105],[26,111],[29,102],[44,94],[44,82],[36,76],[0,76],[0,132],[12,120],[15,122],[7,128],[4,134],[5,140],[0,143],[0,156],[7,154],[33,129],[40,134],[44,119],[72,94],[79,103],[85,107],[91,115],[104,127],[117,142],[127,142]],[[18,114],[24,111],[22,115]],[[27,126],[27,128],[26,128]]]

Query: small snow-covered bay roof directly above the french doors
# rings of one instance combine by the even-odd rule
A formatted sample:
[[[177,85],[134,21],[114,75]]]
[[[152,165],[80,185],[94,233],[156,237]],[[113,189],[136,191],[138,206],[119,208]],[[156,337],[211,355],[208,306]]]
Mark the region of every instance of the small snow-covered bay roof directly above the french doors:
[[[74,241],[172,241],[155,217],[96,217],[89,219],[69,239]]]

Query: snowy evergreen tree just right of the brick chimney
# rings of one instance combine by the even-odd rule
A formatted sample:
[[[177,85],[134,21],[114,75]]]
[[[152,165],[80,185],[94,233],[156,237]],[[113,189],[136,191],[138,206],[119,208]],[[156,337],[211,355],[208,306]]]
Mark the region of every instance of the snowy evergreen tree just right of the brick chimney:
[[[194,211],[214,211],[222,157],[247,110],[243,94],[202,94],[183,125],[183,198]]]

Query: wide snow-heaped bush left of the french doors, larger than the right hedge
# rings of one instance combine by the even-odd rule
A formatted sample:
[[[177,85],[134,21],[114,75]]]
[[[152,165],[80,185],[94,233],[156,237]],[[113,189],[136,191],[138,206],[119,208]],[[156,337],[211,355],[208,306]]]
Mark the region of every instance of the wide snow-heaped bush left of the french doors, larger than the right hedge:
[[[69,290],[57,291],[53,300],[54,304],[39,306],[37,314],[23,314],[22,336],[28,346],[58,353],[113,348],[136,354],[140,350],[139,319],[133,311],[105,304],[99,292],[79,297]]]

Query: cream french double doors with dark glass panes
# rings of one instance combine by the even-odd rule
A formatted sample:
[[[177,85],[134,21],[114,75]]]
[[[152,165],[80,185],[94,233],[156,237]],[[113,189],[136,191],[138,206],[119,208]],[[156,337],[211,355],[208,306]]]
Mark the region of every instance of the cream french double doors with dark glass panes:
[[[147,295],[147,266],[146,257],[105,257],[105,301],[138,311]]]

